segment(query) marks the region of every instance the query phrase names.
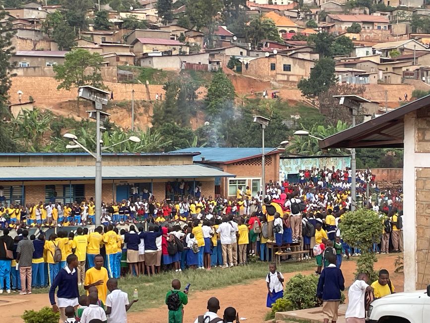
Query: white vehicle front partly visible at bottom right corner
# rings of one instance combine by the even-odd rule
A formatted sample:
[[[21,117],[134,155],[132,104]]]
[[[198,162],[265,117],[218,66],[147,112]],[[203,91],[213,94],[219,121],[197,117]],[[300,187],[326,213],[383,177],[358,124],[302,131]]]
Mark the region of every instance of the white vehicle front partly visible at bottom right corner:
[[[369,323],[430,323],[430,285],[426,290],[396,293],[374,300]]]

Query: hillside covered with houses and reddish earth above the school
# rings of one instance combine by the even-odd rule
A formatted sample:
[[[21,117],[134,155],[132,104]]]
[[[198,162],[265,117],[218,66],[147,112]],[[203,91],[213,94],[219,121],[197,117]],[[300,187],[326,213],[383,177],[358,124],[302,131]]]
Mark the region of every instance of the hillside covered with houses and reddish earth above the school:
[[[42,107],[85,118],[85,107],[67,104],[75,91],[59,90],[54,71],[77,50],[100,55],[101,77],[115,101],[147,102],[142,127],[151,126],[153,104],[165,96],[169,79],[197,80],[196,99],[202,100],[218,70],[238,96],[267,94],[318,108],[315,95],[298,83],[328,56],[335,83],[363,86],[374,114],[398,107],[414,90],[430,90],[424,0],[2,2],[0,22],[13,33],[9,110],[15,115]],[[323,37],[330,37],[333,51],[321,49]],[[193,128],[204,118],[191,121]]]

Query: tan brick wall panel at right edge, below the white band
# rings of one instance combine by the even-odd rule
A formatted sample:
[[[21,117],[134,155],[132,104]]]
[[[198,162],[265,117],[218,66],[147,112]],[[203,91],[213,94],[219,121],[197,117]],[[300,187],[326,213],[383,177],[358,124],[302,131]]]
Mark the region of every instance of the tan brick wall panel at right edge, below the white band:
[[[416,230],[417,230],[417,289],[426,289],[430,283],[430,168],[416,170]]]

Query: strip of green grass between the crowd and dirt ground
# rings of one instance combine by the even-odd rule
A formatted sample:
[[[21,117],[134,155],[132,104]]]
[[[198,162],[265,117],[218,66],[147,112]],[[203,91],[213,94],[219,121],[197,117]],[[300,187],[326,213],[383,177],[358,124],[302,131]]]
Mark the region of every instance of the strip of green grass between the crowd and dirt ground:
[[[314,267],[313,262],[288,262],[278,266],[278,270],[283,273],[301,272]],[[241,284],[251,279],[263,279],[268,272],[267,262],[255,262],[245,267],[234,267],[229,269],[213,268],[206,270],[185,270],[178,274],[172,271],[163,272],[159,275],[148,277],[123,277],[119,281],[119,287],[128,293],[131,299],[133,291],[137,288],[139,302],[130,309],[131,312],[138,312],[149,308],[159,307],[164,304],[166,293],[171,289],[171,282],[174,278],[181,279],[182,288],[187,283],[191,283],[189,295],[194,291],[210,290]],[[48,293],[49,289],[34,289],[34,294]],[[83,287],[79,288],[81,294]],[[206,302],[206,301],[205,301]]]

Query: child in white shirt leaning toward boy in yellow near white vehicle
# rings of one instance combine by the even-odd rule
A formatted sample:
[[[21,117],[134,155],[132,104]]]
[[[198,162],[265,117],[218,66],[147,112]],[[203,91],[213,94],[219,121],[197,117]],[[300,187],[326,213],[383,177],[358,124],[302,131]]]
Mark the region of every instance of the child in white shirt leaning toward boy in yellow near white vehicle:
[[[366,291],[373,291],[373,288],[368,285],[368,280],[368,275],[361,273],[350,286],[348,291],[348,308],[345,312],[346,323],[365,323]]]

